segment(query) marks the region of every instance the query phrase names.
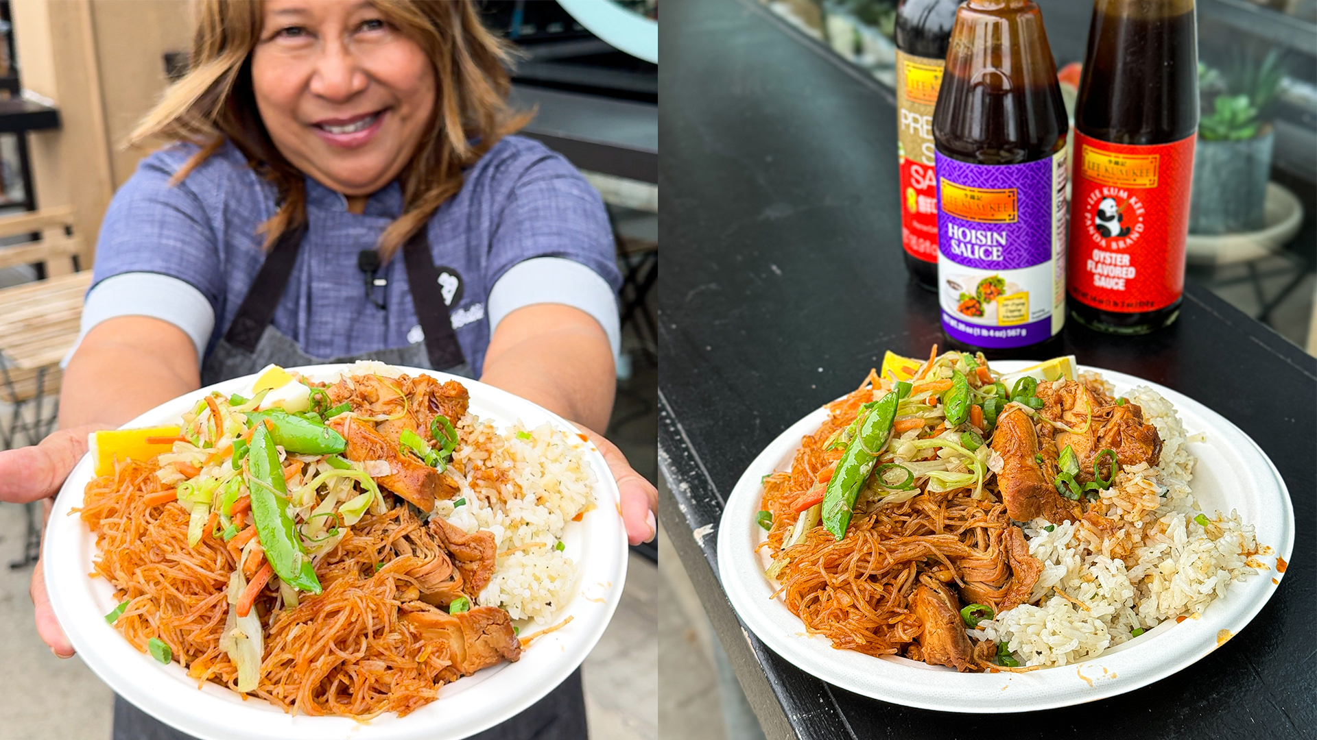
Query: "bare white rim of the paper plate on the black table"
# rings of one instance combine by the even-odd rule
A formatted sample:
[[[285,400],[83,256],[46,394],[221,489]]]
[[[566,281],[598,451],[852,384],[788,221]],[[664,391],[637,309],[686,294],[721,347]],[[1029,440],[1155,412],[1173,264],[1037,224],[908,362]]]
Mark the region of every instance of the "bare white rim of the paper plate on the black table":
[[[1001,361],[993,362],[993,369],[1009,373],[1026,365]],[[827,637],[807,636],[805,624],[772,598],[773,586],[755,553],[755,545],[766,539],[755,521],[760,478],[790,469],[801,437],[813,435],[827,417],[819,408],[773,440],[727,500],[718,531],[718,570],[736,614],[776,653],[828,683],[897,704],[976,714],[1046,710],[1123,694],[1192,665],[1238,635],[1276,591],[1272,579],[1283,578],[1274,568],[1276,556],[1288,561],[1293,548],[1295,511],[1284,481],[1247,435],[1201,403],[1133,375],[1084,370],[1098,370],[1122,394],[1134,386],[1151,387],[1175,404],[1189,435],[1206,433],[1206,441],[1189,444],[1198,458],[1192,483],[1198,506],[1206,512],[1238,510],[1243,523],[1255,527],[1258,544],[1272,548],[1270,554],[1256,556],[1272,566],[1270,571],[1258,570],[1231,583],[1201,619],[1164,621],[1077,665],[1030,673],[956,673],[902,657],[834,649]]]

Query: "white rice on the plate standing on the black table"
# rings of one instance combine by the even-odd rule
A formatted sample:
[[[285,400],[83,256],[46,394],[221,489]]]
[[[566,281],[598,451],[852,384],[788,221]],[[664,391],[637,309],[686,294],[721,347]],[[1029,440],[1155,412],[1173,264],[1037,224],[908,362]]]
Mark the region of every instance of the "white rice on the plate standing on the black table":
[[[1021,665],[1058,666],[1097,657],[1137,628],[1197,616],[1234,581],[1254,574],[1251,524],[1235,511],[1208,527],[1189,490],[1193,453],[1168,400],[1147,387],[1126,394],[1162,437],[1156,467],[1126,466],[1093,510],[1115,520],[1104,533],[1087,521],[1025,524],[1029,552],[1043,562],[1030,604],[981,621],[971,635],[1006,643]],[[1064,595],[1062,595],[1064,594]],[[1036,603],[1036,606],[1034,606]]]

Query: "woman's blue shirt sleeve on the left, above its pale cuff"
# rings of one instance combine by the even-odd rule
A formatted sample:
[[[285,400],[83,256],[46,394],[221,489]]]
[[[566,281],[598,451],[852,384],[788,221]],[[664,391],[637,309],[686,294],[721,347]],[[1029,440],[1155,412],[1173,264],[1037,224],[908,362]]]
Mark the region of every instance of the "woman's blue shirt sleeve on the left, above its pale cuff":
[[[151,154],[115,194],[96,241],[92,291],[126,273],[166,275],[204,296],[213,317],[224,295],[224,270],[211,217],[194,190],[207,187],[208,178],[199,169],[182,183],[170,183],[192,151],[173,146]],[[165,313],[158,317],[171,320],[167,303],[153,305]]]

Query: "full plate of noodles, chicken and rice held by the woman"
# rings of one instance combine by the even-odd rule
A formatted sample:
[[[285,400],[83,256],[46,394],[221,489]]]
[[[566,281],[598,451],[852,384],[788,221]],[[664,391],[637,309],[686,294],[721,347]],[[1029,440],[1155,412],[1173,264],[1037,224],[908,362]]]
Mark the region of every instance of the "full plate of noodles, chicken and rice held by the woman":
[[[42,558],[82,660],[183,732],[458,739],[598,641],[618,502],[583,435],[499,388],[271,366],[94,435]]]

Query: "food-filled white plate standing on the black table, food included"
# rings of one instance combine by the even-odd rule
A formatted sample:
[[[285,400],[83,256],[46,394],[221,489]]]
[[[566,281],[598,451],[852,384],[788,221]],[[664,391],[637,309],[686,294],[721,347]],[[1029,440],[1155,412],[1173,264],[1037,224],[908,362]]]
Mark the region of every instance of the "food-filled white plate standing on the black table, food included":
[[[951,352],[782,432],[727,500],[719,575],[769,648],[898,704],[1077,704],[1191,666],[1276,591],[1284,481],[1201,403],[1073,357]]]

